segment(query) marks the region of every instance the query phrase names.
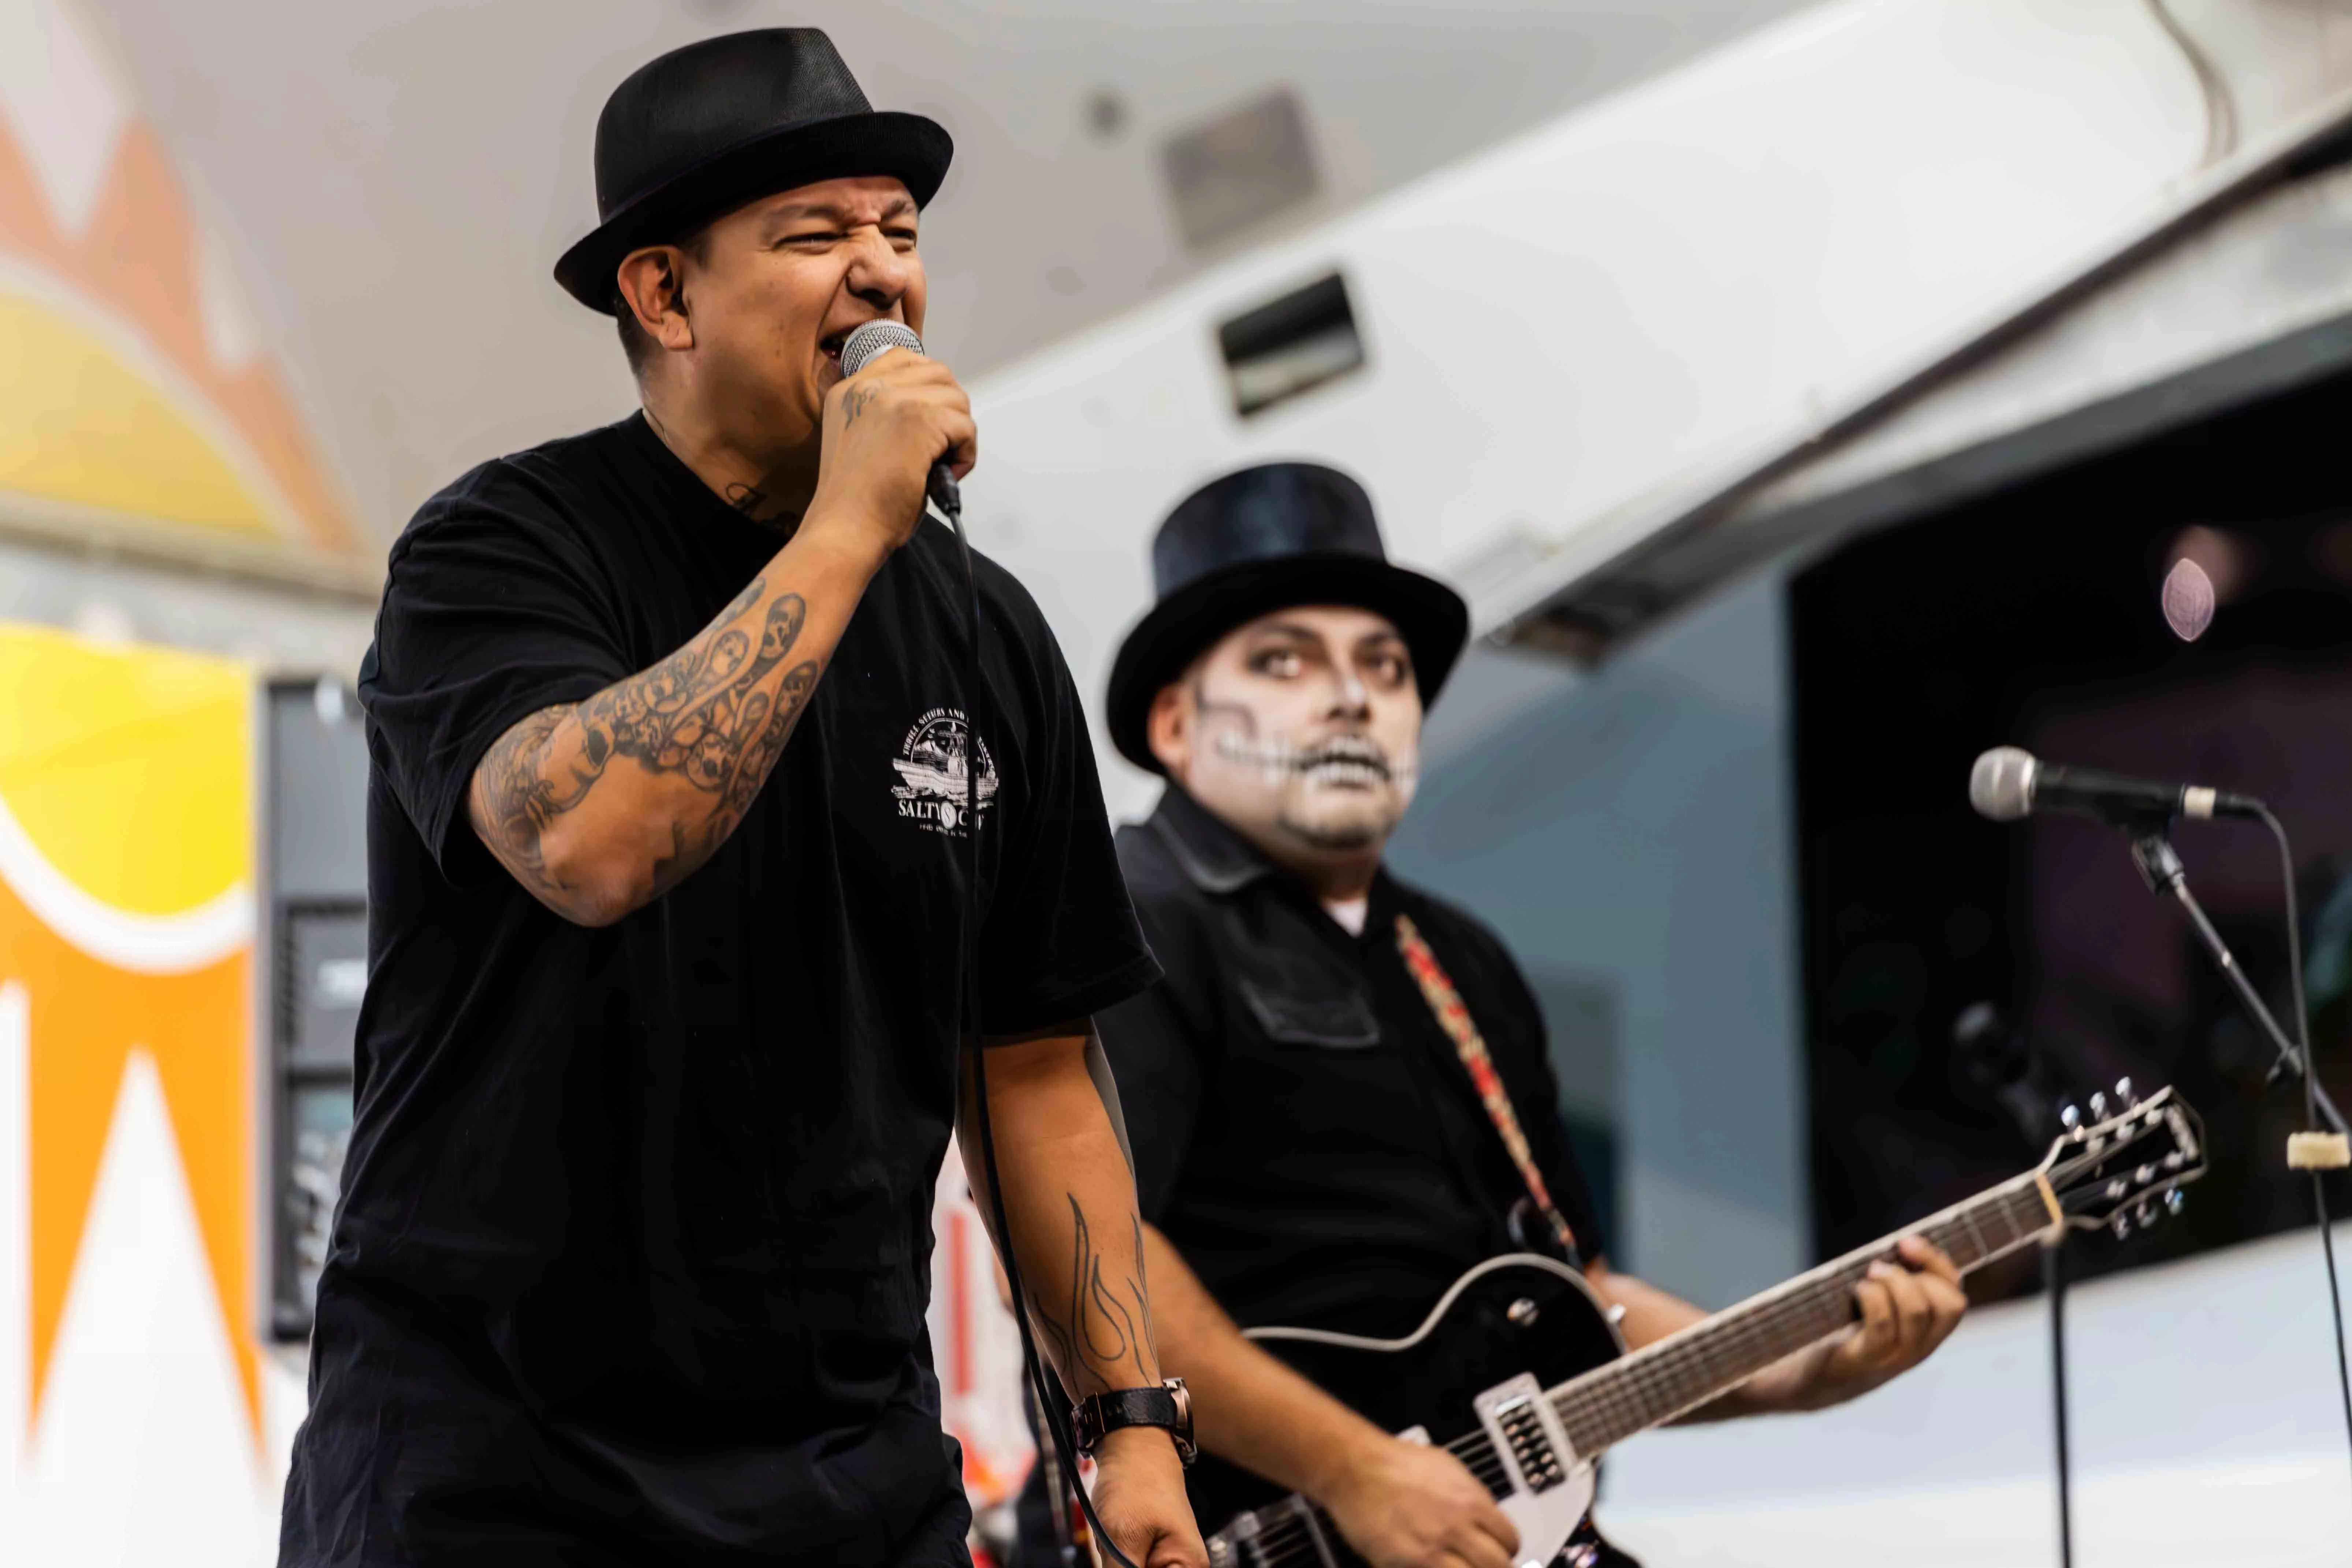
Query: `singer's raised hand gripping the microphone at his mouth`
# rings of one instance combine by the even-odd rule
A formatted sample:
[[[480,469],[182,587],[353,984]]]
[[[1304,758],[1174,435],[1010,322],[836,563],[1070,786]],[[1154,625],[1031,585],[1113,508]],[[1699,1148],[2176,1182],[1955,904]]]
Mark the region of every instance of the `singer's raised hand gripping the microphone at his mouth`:
[[[875,562],[915,536],[931,463],[978,461],[971,400],[938,360],[891,350],[826,393],[826,442],[804,529]]]

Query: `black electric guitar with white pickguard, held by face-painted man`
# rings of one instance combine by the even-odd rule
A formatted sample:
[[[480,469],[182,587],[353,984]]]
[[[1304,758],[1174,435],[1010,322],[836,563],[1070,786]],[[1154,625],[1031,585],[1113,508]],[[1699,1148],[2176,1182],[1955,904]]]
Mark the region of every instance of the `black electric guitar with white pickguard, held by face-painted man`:
[[[2119,1237],[2133,1220],[2145,1227],[2159,1208],[2178,1208],[2180,1185],[2204,1168],[2197,1112],[2161,1088],[2072,1128],[2025,1175],[1903,1234],[1926,1237],[1969,1272],[2030,1241],[2058,1241],[2067,1227]],[[1851,1324],[1853,1286],[1896,1255],[1896,1241],[1835,1258],[1630,1354],[1583,1274],[1531,1253],[1463,1274],[1402,1340],[1315,1328],[1251,1328],[1249,1338],[1390,1432],[1444,1443],[1519,1528],[1519,1566],[1543,1568],[1564,1547],[1590,1554],[1602,1450]],[[1362,1563],[1322,1507],[1277,1497],[1240,1467],[1202,1455],[1188,1490],[1202,1523],[1221,1521],[1209,1537],[1216,1568]]]

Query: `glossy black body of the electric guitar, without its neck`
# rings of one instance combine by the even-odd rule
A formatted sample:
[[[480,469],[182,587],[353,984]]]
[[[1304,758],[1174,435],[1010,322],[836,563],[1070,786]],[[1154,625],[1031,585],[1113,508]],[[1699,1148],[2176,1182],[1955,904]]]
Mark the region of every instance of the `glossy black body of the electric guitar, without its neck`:
[[[1463,1274],[1402,1340],[1315,1328],[1251,1328],[1249,1338],[1374,1425],[1425,1434],[1439,1448],[1496,1432],[1494,1415],[1482,1413],[1482,1403],[1496,1406],[1496,1389],[1512,1385],[1538,1394],[1625,1354],[1625,1340],[1583,1276],[1531,1253],[1491,1258]],[[1501,1460],[1491,1446],[1472,1465],[1519,1526],[1522,1563],[1548,1563],[1592,1505],[1592,1467],[1564,1453],[1557,1429],[1550,1448],[1562,1472],[1550,1483],[1538,1474],[1531,1486],[1519,1465]],[[1214,1563],[1359,1561],[1329,1523],[1303,1519],[1305,1509],[1279,1486],[1207,1453],[1185,1486],[1192,1514],[1214,1533]]]

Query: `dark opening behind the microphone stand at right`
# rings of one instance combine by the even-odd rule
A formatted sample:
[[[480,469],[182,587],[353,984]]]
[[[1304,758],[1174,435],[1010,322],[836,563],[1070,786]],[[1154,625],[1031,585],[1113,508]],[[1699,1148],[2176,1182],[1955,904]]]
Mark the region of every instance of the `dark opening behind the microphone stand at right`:
[[[2218,597],[2194,642],[2161,602],[2180,555]],[[1790,637],[1820,1253],[2039,1157],[1955,1051],[1976,1001],[2039,1053],[2051,1135],[2063,1093],[2126,1074],[2206,1117],[2187,1211],[2072,1248],[2079,1272],[2307,1225],[2284,1171],[2300,1095],[2265,1084],[2270,1051],[2122,835],[1985,823],[1966,783],[2006,743],[2265,797],[2296,842],[2321,1079],[2352,1095],[2352,376],[1849,543],[1792,581]],[[2176,844],[2284,1018],[2270,835]]]

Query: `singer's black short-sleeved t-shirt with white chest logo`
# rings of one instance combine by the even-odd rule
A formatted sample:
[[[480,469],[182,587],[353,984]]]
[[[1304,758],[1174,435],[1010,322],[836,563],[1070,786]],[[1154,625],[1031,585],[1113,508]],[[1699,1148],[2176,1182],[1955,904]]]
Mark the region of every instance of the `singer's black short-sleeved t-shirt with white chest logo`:
[[[924,524],[680,886],[593,931],[475,839],[508,726],[783,543],[644,418],[477,468],[362,668],[369,976],[282,1563],[962,1563],[924,1335],[957,1079],[964,574]],[[978,564],[981,1023],[1157,973],[1037,607]],[[988,788],[995,785],[993,797]]]

